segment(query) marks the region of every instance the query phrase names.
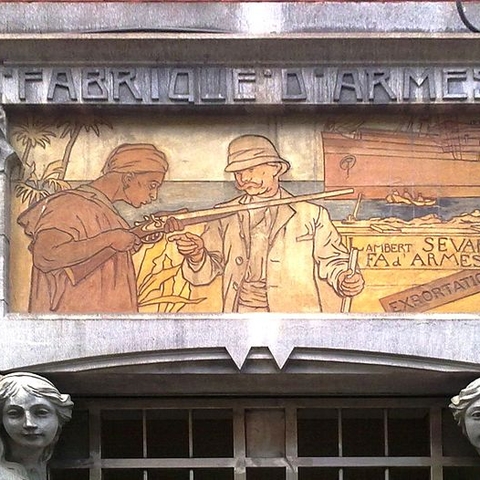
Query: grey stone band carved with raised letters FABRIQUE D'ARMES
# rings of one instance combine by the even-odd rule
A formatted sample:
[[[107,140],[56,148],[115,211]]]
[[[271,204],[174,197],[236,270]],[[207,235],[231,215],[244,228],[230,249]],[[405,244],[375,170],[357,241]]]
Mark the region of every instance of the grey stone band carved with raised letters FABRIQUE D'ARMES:
[[[299,65],[0,66],[3,105],[476,104],[474,66]],[[320,81],[321,79],[321,81]],[[319,90],[321,94],[319,94]]]

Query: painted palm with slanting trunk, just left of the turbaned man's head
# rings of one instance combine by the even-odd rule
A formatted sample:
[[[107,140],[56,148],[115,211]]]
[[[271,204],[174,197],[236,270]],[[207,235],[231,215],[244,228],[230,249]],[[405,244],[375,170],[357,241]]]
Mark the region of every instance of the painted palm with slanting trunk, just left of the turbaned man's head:
[[[92,131],[99,137],[101,126],[113,128],[110,122],[98,113],[84,112],[71,117],[63,117],[57,121],[57,127],[62,129],[60,138],[69,137],[63,152],[58,179],[63,180],[65,178],[72,149],[82,130],[85,130],[87,133]]]

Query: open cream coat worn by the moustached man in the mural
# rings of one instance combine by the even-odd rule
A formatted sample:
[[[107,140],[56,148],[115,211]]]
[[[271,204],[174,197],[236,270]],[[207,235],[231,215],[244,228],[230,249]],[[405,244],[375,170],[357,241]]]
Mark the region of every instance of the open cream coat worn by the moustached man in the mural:
[[[291,197],[281,189],[281,197]],[[245,203],[245,196],[225,205]],[[269,235],[267,297],[271,312],[340,311],[338,277],[348,269],[348,251],[327,210],[308,202],[281,205]],[[185,261],[192,285],[208,285],[223,275],[223,311],[237,311],[237,294],[250,256],[248,212],[207,224],[205,261],[196,269]]]

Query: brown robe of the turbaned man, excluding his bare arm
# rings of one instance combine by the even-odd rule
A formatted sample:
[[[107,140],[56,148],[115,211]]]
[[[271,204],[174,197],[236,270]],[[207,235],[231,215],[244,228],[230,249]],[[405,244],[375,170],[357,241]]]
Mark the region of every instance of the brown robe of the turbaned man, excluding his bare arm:
[[[18,217],[18,223],[32,238],[33,269],[29,312],[93,313],[137,312],[135,270],[130,252],[117,252],[75,283],[69,266],[42,271],[36,256],[35,239],[43,230],[56,229],[73,241],[92,238],[117,228],[127,229],[112,203],[100,191],[82,186],[58,193],[33,205]],[[45,264],[45,262],[40,262]]]

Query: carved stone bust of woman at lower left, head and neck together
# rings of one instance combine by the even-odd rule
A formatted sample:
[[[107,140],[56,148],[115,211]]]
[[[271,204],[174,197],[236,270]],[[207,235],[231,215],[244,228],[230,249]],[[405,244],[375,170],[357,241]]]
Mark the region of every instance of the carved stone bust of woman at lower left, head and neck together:
[[[46,480],[47,462],[72,408],[70,396],[39,375],[0,378],[0,478]]]

